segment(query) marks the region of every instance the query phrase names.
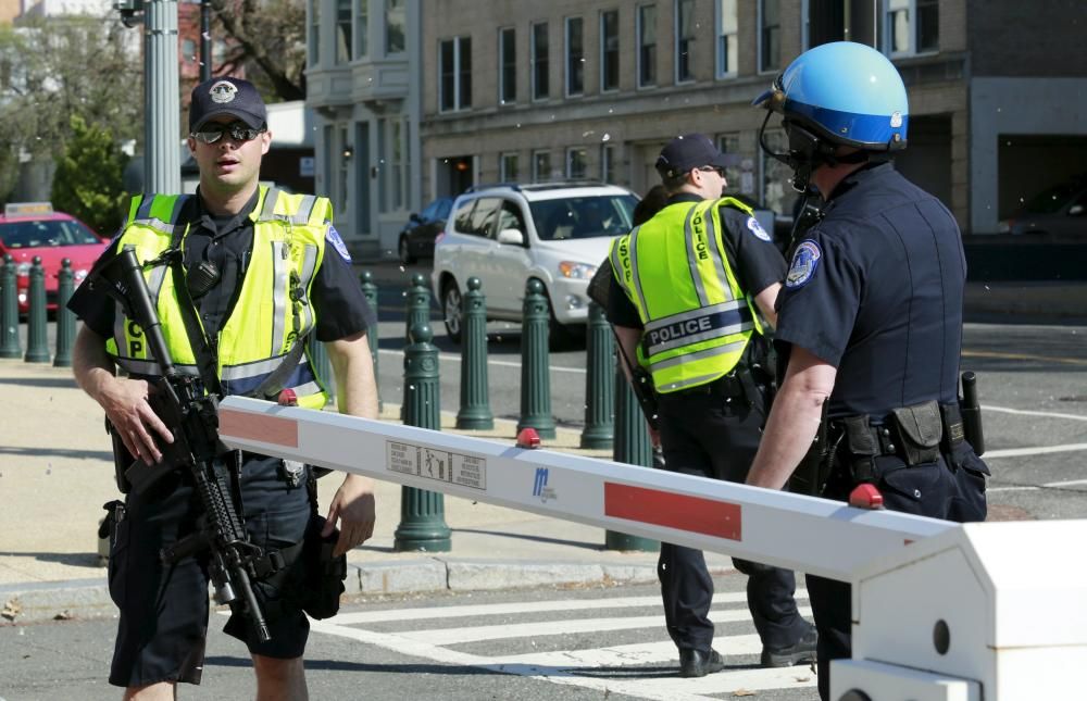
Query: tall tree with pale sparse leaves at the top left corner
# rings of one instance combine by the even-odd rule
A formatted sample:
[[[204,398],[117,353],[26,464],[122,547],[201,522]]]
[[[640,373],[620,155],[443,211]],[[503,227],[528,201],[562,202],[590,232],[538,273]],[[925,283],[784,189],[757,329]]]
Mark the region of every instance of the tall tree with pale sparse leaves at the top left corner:
[[[20,163],[57,161],[72,117],[116,141],[141,138],[143,72],[139,38],[105,17],[28,17],[0,26],[0,200]]]

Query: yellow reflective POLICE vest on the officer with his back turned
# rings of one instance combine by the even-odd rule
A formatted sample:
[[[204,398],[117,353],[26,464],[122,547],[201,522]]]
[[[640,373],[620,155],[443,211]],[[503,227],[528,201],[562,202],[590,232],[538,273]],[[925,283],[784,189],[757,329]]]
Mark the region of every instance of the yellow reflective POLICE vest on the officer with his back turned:
[[[723,204],[750,215],[732,198],[676,203],[612,245],[615,277],[645,328],[638,361],[662,393],[732,372],[762,331],[719,236]]]

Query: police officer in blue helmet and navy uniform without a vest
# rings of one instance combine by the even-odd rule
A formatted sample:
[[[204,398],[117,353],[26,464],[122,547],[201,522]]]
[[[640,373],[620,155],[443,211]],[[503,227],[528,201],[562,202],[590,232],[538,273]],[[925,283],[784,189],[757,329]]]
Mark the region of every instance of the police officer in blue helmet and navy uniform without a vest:
[[[822,212],[794,237],[777,300],[784,379],[748,483],[837,500],[869,483],[887,509],[983,521],[988,468],[963,438],[958,396],[962,238],[890,163],[909,122],[898,71],[864,45],[827,43],[755,105],[782,115],[788,152],[760,141]],[[808,591],[826,699],[829,661],[850,656],[850,587],[809,575]]]

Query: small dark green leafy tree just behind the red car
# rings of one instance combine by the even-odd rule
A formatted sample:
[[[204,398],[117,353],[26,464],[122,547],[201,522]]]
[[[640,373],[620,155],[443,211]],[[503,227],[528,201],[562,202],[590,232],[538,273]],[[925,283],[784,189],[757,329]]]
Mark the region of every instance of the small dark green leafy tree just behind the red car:
[[[72,115],[72,135],[53,174],[53,206],[83,220],[100,235],[116,230],[128,195],[122,175],[128,157],[109,127]]]

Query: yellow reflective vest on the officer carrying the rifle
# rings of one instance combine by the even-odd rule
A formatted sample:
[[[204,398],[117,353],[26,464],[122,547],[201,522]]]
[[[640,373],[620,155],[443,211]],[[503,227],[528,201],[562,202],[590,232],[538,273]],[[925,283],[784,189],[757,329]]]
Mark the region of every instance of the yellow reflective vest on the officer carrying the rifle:
[[[178,217],[186,198],[192,196],[137,196],[133,198],[124,231],[115,241],[117,252],[134,247],[141,263],[158,259],[171,245],[175,229],[184,249],[188,224]],[[253,221],[253,247],[241,289],[229,316],[218,330],[218,378],[224,395],[246,395],[274,372],[295,345],[316,324],[310,303],[314,273],[325,254],[325,235],[332,222],[332,203],[312,195],[288,195],[260,188]],[[199,375],[196,353],[182,317],[174,278],[168,265],[145,268],[162,322],[166,348],[176,368]],[[130,374],[162,375],[139,325],[117,305],[113,336],[107,352]],[[284,383],[295,390],[300,406],[321,409],[328,401],[328,378],[318,377],[309,352]]]

